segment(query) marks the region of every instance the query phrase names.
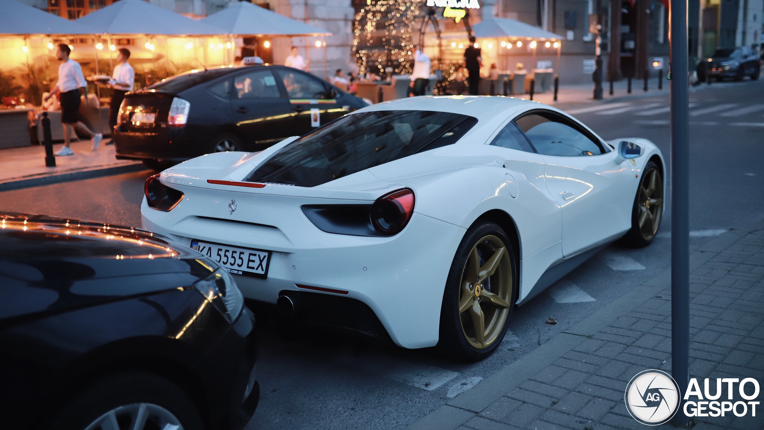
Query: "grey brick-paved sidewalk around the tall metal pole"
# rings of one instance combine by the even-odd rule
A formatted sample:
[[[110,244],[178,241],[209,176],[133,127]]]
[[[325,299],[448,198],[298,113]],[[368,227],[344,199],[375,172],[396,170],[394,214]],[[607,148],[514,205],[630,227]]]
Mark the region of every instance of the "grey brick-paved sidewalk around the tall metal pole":
[[[701,390],[702,378],[712,378],[711,393],[716,378],[753,377],[764,385],[764,223],[693,252],[690,297],[690,377]],[[410,428],[649,428],[629,415],[623,394],[642,370],[671,371],[670,272],[607,308]],[[732,402],[743,400],[737,385],[733,390]],[[762,399],[764,386],[755,400]],[[742,418],[732,412],[696,418],[694,428],[764,428],[761,407],[755,418],[750,410]]]

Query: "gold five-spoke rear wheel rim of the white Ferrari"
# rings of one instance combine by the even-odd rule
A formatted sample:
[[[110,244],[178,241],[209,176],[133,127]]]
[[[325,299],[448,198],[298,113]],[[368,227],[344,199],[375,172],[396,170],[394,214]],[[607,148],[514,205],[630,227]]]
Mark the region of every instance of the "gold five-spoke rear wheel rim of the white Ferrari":
[[[487,348],[510,313],[512,262],[501,239],[484,236],[472,247],[459,285],[461,330],[473,347]]]

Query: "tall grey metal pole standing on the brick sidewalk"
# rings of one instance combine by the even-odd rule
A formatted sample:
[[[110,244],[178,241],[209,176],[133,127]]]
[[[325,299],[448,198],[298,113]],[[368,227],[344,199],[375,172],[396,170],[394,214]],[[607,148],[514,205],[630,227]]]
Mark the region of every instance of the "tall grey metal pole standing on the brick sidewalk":
[[[687,389],[690,352],[690,119],[687,46],[687,0],[671,0],[669,9],[671,58],[671,322],[672,376],[679,385],[678,425],[688,425],[681,413]]]

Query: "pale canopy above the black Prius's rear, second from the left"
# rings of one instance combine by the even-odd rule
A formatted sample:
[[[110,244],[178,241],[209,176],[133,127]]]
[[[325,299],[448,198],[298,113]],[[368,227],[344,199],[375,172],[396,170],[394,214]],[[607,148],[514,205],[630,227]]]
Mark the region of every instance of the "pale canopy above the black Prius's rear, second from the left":
[[[163,34],[206,36],[224,34],[219,28],[194,21],[142,0],[120,0],[74,22],[95,34]]]

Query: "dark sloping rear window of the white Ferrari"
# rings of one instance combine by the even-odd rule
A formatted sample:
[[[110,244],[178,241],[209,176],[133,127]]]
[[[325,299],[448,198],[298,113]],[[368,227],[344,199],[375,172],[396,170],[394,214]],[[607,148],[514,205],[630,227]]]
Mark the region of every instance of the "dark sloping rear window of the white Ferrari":
[[[330,122],[286,145],[248,181],[315,187],[458,141],[478,119],[449,112],[384,110]]]

